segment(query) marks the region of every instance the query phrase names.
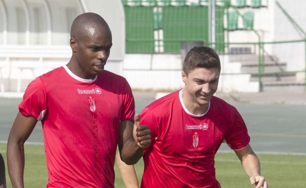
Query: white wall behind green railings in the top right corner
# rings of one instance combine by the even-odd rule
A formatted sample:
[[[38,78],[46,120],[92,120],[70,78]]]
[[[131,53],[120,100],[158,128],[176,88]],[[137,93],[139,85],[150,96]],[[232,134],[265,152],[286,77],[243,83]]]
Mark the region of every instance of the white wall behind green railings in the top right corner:
[[[306,31],[306,1],[305,0],[278,0],[280,5]],[[275,5],[274,39],[301,40],[304,35],[289,21],[280,8]],[[288,70],[303,70],[305,68],[305,43],[288,43],[274,45],[273,53],[280,61],[288,63]]]

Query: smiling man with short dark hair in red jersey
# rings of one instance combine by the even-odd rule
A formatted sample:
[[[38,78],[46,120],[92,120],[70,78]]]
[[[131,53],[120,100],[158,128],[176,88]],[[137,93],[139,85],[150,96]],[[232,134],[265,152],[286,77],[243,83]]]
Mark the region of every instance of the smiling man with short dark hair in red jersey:
[[[260,164],[249,145],[247,127],[238,111],[214,97],[220,60],[209,47],[192,48],[185,60],[185,87],[148,105],[141,124],[149,125],[152,145],[146,148],[141,188],[221,188],[215,177],[214,157],[226,142],[240,159],[256,188],[267,188]],[[117,161],[128,188],[136,188],[132,166]],[[131,183],[132,182],[132,183]]]

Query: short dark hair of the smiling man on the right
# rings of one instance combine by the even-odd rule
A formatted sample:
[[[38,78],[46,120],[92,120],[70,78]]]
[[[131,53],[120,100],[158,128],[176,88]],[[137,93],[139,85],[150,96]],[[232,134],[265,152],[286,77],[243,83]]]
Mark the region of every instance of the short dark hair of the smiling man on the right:
[[[217,68],[221,71],[220,59],[216,51],[208,46],[195,46],[186,55],[183,71],[188,75],[196,68]]]

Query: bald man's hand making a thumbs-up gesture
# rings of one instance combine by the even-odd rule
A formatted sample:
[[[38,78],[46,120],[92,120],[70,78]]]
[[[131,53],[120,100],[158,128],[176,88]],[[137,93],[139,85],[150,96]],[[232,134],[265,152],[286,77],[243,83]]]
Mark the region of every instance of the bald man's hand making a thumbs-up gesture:
[[[148,125],[139,125],[140,115],[134,116],[133,137],[140,148],[146,148],[151,144],[151,130]]]

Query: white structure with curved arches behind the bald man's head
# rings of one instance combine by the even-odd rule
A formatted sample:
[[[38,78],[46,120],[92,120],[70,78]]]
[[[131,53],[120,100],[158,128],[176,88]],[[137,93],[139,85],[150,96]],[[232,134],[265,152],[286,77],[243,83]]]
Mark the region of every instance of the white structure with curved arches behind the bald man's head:
[[[70,27],[77,15],[84,11],[97,13],[108,22],[113,46],[105,69],[123,74],[125,14],[121,0],[48,0],[51,9],[51,45],[48,45],[47,35],[49,15],[42,0],[26,0],[30,21],[29,45],[25,45],[27,22],[22,0],[3,2],[8,14],[8,42],[7,45],[0,44],[1,94],[17,91],[17,96],[22,96],[26,85],[35,77],[67,64],[72,53],[69,46]],[[0,17],[3,20],[2,14]],[[2,34],[3,24],[0,28]],[[1,37],[3,42],[3,35]]]

